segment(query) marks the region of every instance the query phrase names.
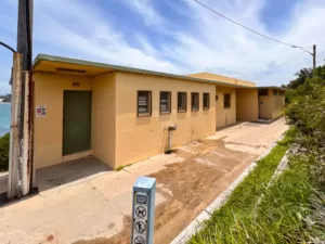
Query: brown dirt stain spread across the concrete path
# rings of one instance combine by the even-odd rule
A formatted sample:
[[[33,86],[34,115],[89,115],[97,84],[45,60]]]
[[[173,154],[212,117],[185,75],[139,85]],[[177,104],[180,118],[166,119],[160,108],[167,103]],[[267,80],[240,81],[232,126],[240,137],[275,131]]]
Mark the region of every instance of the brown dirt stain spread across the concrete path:
[[[156,178],[157,192],[168,198],[156,207],[155,243],[170,243],[224,190],[225,183],[220,179],[225,180],[225,174],[227,182],[233,182],[257,157],[225,149],[222,139],[204,140],[197,142],[197,146],[199,149],[196,151],[200,153],[195,157],[180,149],[174,153],[188,159],[167,165],[166,169],[148,175]],[[166,192],[166,188],[169,192]],[[130,229],[131,216],[125,216],[125,229],[120,233],[75,244],[129,244]]]

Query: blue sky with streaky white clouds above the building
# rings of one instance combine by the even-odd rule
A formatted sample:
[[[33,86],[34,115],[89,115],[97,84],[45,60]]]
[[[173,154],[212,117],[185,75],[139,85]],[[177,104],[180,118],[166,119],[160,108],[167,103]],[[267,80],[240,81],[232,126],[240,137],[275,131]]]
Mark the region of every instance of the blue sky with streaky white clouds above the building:
[[[324,0],[200,1],[272,38],[317,44],[317,65],[324,63]],[[17,0],[0,0],[0,40],[16,48],[16,28]],[[46,53],[179,75],[209,72],[258,86],[287,84],[312,66],[310,54],[255,35],[194,0],[34,0],[32,31],[34,57]],[[11,67],[12,53],[0,46],[0,94],[10,92]]]

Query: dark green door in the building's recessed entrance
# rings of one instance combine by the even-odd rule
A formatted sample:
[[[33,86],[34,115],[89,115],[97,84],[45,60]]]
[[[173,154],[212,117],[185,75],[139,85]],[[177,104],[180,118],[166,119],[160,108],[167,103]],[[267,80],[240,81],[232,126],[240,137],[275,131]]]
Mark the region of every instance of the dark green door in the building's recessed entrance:
[[[64,91],[63,155],[90,150],[91,91]]]

